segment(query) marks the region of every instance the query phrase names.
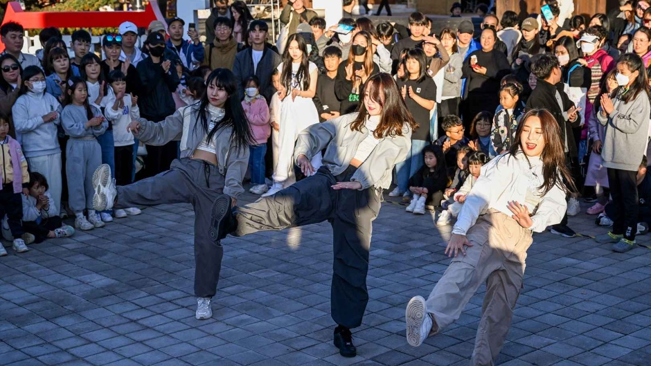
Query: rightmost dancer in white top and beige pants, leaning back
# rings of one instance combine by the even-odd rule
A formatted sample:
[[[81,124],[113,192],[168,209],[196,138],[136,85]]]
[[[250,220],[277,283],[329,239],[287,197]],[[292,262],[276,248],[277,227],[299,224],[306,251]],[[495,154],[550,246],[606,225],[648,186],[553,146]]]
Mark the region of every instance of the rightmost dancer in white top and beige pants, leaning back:
[[[407,342],[418,347],[459,318],[486,283],[471,365],[492,365],[506,339],[522,287],[531,233],[559,223],[573,190],[560,128],[545,109],[528,111],[506,154],[482,167],[465,199],[445,254],[452,263],[427,301],[407,304]],[[480,213],[485,212],[482,216]],[[461,252],[461,256],[457,256]]]

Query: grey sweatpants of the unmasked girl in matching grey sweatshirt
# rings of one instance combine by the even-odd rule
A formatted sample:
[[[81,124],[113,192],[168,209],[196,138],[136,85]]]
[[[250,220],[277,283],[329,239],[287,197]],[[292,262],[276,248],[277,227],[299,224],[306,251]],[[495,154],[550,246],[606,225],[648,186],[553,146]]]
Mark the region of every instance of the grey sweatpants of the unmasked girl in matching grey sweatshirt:
[[[68,204],[78,214],[93,210],[93,172],[102,163],[102,148],[95,138],[71,138],[66,144],[66,176],[68,176]]]

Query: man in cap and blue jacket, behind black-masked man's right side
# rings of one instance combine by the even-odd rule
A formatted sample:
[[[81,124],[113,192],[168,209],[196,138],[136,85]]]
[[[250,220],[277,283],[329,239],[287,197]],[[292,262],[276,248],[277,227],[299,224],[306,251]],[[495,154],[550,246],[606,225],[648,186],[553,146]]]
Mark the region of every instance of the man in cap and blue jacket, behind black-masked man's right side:
[[[188,37],[191,41],[183,39],[183,30],[186,22],[174,17],[168,21],[168,33],[170,38],[167,47],[181,60],[184,68],[193,71],[197,66],[204,62],[204,45],[199,41],[199,33],[195,28],[188,30]]]

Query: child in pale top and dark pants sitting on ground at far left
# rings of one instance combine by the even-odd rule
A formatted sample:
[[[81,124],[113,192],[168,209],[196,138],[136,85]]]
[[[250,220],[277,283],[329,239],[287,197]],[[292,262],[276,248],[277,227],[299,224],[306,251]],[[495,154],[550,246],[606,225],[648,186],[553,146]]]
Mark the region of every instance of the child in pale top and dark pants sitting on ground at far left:
[[[62,223],[43,174],[30,173],[28,189],[29,194],[22,195],[24,230],[35,236],[36,243],[45,239],[71,237],[75,229]]]

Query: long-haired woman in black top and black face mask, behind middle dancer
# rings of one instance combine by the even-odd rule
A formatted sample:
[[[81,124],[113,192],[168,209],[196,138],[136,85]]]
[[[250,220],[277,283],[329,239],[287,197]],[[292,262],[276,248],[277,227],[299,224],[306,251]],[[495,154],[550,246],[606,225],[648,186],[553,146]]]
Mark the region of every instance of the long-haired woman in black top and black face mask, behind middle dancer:
[[[341,115],[357,110],[361,102],[360,93],[366,80],[380,73],[380,67],[373,62],[371,35],[362,30],[353,38],[353,46],[348,52],[348,60],[339,64],[335,79],[335,94],[341,100]]]

